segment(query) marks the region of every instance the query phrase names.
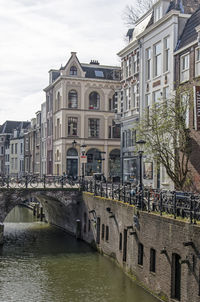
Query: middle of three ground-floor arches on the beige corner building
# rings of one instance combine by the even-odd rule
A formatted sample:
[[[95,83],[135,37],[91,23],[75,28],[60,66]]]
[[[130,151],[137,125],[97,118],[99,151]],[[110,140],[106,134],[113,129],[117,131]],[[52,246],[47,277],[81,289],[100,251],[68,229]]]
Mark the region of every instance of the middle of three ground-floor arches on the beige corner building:
[[[102,158],[101,152],[96,149],[88,150],[87,154],[87,164],[86,164],[86,175],[91,176],[94,173],[101,173],[102,170]]]

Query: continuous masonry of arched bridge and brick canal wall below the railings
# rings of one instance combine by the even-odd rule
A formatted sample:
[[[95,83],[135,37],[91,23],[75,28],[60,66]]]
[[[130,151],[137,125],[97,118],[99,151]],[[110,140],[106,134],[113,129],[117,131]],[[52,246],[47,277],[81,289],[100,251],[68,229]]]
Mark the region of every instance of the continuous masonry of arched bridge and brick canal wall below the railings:
[[[199,224],[77,189],[5,190],[0,194],[0,222],[27,196],[41,202],[48,222],[115,259],[163,301],[200,300]],[[3,228],[0,233],[2,237]]]

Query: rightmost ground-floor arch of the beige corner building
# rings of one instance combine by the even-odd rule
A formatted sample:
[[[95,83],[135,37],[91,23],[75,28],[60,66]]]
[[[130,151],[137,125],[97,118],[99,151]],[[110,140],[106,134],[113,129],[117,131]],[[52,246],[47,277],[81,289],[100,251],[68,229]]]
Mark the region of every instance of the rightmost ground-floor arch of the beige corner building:
[[[109,178],[113,181],[120,180],[120,150],[114,149],[109,154]]]

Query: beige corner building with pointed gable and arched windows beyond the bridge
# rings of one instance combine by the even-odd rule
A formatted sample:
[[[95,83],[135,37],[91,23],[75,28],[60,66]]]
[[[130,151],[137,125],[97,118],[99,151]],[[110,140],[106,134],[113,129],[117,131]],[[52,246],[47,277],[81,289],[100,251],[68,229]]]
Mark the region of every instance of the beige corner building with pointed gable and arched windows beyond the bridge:
[[[119,176],[120,129],[114,121],[119,80],[120,68],[82,64],[75,52],[59,71],[50,71],[45,92],[47,101],[52,96],[53,174]],[[49,150],[47,145],[47,165]]]

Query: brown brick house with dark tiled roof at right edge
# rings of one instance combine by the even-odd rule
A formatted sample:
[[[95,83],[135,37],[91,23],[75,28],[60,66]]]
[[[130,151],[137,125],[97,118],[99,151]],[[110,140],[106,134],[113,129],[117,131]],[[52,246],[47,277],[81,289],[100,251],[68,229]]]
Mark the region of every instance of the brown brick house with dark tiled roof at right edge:
[[[187,189],[200,191],[200,8],[186,23],[177,44],[175,66],[175,88],[183,91],[181,98],[190,98],[186,125],[190,131],[192,154]]]

